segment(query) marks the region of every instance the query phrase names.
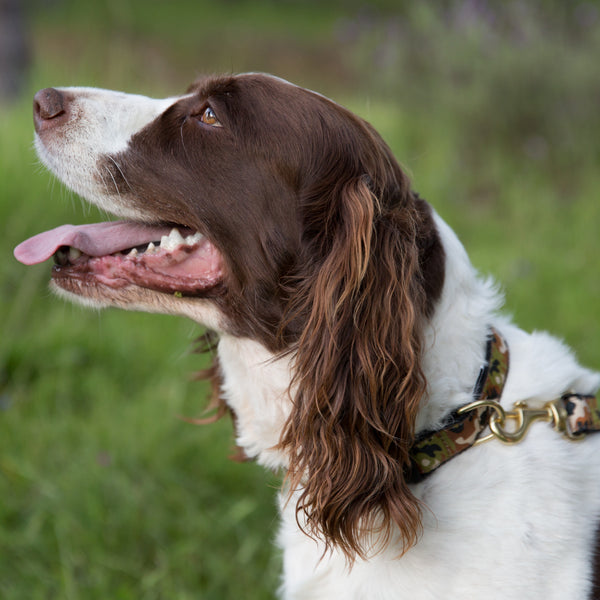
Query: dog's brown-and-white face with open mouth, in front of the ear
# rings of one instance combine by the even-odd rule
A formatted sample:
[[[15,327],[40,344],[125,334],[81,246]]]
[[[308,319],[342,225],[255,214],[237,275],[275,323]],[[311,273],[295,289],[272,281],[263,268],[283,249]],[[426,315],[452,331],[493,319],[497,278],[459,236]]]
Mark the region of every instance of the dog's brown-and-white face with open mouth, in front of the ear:
[[[305,196],[369,160],[356,143],[370,135],[364,122],[263,75],[206,78],[165,100],[42,90],[34,120],[42,162],[125,219],[43,238],[35,258],[58,250],[56,289],[94,305],[184,314],[269,346],[285,312],[281,287],[297,274]]]

